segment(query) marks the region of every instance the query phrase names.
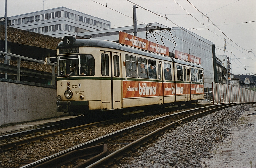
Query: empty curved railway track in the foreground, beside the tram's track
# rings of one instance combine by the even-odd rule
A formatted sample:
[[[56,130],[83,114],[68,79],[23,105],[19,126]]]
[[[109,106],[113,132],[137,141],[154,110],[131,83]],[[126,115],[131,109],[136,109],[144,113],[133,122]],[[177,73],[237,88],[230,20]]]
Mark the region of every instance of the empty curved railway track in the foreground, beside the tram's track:
[[[22,168],[60,167],[67,164],[72,164],[72,166],[76,168],[108,167],[116,160],[136,151],[141,145],[145,145],[156,139],[159,135],[162,135],[165,130],[170,129],[170,127],[173,127],[176,124],[180,124],[193,117],[205,115],[215,110],[239,104],[242,103],[202,107],[142,122],[82,143],[73,148],[63,150],[49,157],[45,157],[44,159],[25,165]],[[94,147],[95,150],[91,150]],[[84,155],[84,153],[86,153],[86,155]]]

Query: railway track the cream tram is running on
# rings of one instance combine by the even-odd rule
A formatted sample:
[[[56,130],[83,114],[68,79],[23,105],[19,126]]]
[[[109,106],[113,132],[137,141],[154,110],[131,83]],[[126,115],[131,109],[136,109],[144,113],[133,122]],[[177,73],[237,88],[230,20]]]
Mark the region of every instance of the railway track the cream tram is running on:
[[[202,106],[205,106],[205,105],[197,105],[197,107],[202,107]],[[187,108],[186,106],[180,106],[180,107],[173,108],[172,110],[175,111],[175,110],[181,110],[186,108]],[[170,108],[166,108],[165,110],[162,110],[162,111],[166,112],[169,109]],[[158,111],[153,111],[153,112],[151,111],[144,114],[136,114],[136,115],[132,115],[131,117],[148,115],[150,113],[156,113],[156,112]],[[109,119],[109,120],[98,120],[97,122],[88,122],[85,120],[80,120],[79,118],[72,118],[70,120],[64,121],[63,123],[58,123],[56,125],[2,135],[0,136],[0,149],[9,150],[14,147],[17,148],[27,143],[37,142],[40,140],[50,138],[52,136],[60,136],[62,134],[68,134],[73,131],[79,131],[88,127],[96,126],[97,124],[103,124],[110,121],[117,121],[118,119],[115,118],[115,119]],[[83,124],[84,122],[87,122],[87,124]]]

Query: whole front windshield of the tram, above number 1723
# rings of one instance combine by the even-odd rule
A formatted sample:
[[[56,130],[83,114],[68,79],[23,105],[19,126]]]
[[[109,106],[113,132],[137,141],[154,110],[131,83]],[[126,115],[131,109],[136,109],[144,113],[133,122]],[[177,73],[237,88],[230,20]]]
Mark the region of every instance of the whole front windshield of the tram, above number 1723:
[[[92,55],[69,55],[59,57],[59,76],[95,75]]]

